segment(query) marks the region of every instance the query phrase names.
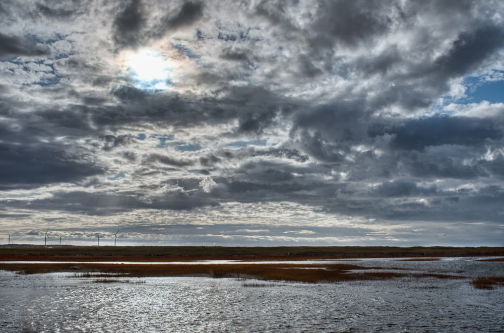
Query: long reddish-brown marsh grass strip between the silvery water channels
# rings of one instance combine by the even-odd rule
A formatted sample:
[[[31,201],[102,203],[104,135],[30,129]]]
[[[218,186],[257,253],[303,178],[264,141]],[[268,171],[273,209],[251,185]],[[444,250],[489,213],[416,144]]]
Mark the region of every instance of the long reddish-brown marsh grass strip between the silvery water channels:
[[[390,280],[405,277],[460,279],[440,273],[391,271],[380,267],[363,267],[347,263],[236,263],[236,264],[107,264],[107,263],[2,263],[0,270],[18,274],[72,272],[77,277],[117,279],[121,277],[212,277],[291,281],[305,283],[337,283],[361,280]]]

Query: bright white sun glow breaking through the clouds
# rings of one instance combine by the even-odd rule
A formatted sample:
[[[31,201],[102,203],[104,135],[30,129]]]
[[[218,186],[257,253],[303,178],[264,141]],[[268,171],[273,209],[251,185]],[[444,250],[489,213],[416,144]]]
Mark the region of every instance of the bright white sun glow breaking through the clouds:
[[[172,65],[160,53],[143,50],[132,54],[128,67],[141,89],[167,89]]]

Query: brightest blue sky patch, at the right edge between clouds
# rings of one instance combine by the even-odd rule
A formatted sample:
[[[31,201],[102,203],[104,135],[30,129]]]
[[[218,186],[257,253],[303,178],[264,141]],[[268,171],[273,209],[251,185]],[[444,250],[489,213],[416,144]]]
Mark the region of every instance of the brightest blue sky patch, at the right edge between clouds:
[[[467,102],[480,103],[488,101],[490,103],[504,102],[504,81],[487,81],[482,78],[471,77],[466,79],[468,87]]]

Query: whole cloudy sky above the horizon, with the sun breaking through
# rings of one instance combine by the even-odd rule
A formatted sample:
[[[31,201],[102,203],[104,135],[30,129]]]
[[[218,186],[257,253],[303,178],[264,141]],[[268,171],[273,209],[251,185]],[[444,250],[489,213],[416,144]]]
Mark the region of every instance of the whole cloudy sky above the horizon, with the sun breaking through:
[[[0,243],[503,246],[503,14],[3,0]]]

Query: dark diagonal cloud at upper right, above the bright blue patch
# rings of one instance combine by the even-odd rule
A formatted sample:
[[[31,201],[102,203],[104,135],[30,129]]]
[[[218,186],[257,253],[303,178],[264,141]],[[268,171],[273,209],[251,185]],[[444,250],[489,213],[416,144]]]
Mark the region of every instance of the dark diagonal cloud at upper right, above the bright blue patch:
[[[470,74],[481,66],[504,45],[504,29],[500,26],[475,23],[472,30],[461,32],[452,42],[450,49],[432,61],[417,63],[404,59],[404,55],[392,50],[371,62],[362,62],[359,70],[364,75],[381,72],[390,82],[401,83],[382,88],[379,96],[370,99],[371,108],[380,108],[391,104],[402,105],[406,109],[426,108],[449,90],[450,80]],[[430,44],[426,41],[425,44]],[[409,55],[408,55],[409,56]],[[398,64],[407,66],[405,73],[387,73]],[[404,72],[404,71],[403,71]]]

